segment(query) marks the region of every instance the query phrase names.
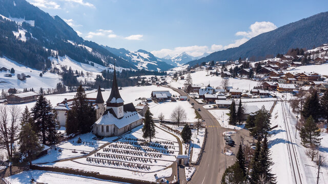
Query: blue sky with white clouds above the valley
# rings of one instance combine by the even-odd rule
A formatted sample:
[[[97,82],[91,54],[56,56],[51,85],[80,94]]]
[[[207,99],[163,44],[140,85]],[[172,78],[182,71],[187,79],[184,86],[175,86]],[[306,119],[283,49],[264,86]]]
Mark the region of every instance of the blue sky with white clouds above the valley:
[[[328,11],[328,1],[27,0],[79,36],[112,48],[198,57]]]

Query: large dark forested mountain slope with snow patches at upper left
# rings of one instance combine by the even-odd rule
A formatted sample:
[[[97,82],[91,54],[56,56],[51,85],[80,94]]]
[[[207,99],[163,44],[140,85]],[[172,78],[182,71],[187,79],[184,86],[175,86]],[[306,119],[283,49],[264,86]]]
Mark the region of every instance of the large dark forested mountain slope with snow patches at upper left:
[[[97,43],[79,37],[59,16],[50,16],[25,0],[0,0],[0,15],[0,57],[37,70],[50,68],[49,58],[58,56],[137,69]]]

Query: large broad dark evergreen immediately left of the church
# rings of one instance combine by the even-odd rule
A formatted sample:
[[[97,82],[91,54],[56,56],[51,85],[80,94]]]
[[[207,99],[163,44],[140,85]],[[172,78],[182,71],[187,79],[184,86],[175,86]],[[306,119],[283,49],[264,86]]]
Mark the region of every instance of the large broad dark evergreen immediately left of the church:
[[[96,113],[91,103],[87,101],[87,95],[81,85],[77,88],[71,110],[73,112],[70,114],[70,120],[66,121],[69,121],[68,123],[73,123],[73,127],[77,125],[77,130],[81,133],[89,132],[91,126],[96,121]],[[74,129],[72,130],[74,132]]]

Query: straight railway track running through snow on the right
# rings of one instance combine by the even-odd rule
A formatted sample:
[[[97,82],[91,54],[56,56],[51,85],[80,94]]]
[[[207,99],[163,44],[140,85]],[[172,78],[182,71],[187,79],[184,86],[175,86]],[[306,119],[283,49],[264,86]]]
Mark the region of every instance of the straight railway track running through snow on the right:
[[[283,100],[281,98],[281,107],[282,107],[282,117],[283,117],[283,123],[285,125],[286,129],[286,135],[287,135],[287,141],[288,141],[288,151],[289,151],[289,156],[290,156],[290,161],[291,161],[291,168],[292,168],[292,174],[294,175],[294,181],[295,183],[300,183],[302,184],[302,176],[300,174],[299,168],[298,168],[298,159],[296,156],[296,148],[295,148],[295,143],[293,143],[292,140],[292,134],[291,134],[291,128],[288,123],[288,117],[285,111],[285,106],[283,105]]]

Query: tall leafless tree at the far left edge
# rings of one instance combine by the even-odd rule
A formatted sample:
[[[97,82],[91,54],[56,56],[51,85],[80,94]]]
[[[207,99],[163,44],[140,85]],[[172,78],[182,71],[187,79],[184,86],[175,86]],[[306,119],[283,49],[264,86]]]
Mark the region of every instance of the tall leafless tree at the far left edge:
[[[0,148],[7,150],[8,156],[13,155],[13,146],[18,136],[18,119],[21,110],[17,106],[0,106]]]

